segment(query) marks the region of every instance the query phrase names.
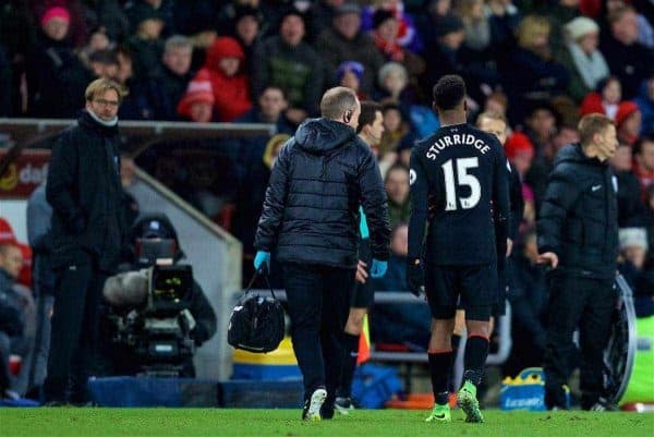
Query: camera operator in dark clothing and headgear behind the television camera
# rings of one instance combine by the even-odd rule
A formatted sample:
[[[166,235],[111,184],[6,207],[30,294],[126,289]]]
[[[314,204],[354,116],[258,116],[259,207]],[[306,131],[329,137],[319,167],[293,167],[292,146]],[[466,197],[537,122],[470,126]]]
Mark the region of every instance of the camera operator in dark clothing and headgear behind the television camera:
[[[167,258],[168,255],[161,254],[162,256],[156,256],[156,259],[147,258],[140,255],[140,245],[146,241],[173,241],[174,248],[170,254],[171,257]],[[172,223],[165,215],[146,215],[141,219],[136,220],[132,227],[131,232],[131,246],[132,257],[125,259],[119,267],[119,274],[117,277],[109,278],[107,280],[107,287],[105,288],[105,301],[102,303],[102,317],[101,317],[101,344],[100,344],[100,373],[111,375],[136,375],[143,371],[143,360],[136,356],[135,351],[128,344],[116,343],[111,338],[111,333],[116,330],[110,320],[110,314],[113,314],[112,303],[116,304],[117,300],[124,299],[126,301],[133,298],[129,294],[132,293],[130,290],[129,280],[124,280],[125,275],[137,272],[138,270],[152,267],[155,264],[158,265],[177,265],[183,257],[177,231]],[[125,290],[118,290],[120,286],[125,284]],[[113,289],[113,290],[111,290]],[[107,295],[114,295],[112,303],[107,300]],[[145,293],[145,291],[143,292]],[[142,293],[142,295],[143,295]],[[138,293],[137,293],[138,294]],[[193,287],[191,288],[190,295],[185,298],[189,302],[189,313],[195,320],[195,326],[191,329],[190,335],[193,340],[194,347],[199,348],[205,341],[210,339],[216,333],[216,313],[207,300],[199,284],[194,280]],[[122,305],[121,305],[122,306]],[[182,369],[179,372],[179,376],[183,377],[195,377],[195,367],[193,365],[193,356],[187,356],[183,360]]]

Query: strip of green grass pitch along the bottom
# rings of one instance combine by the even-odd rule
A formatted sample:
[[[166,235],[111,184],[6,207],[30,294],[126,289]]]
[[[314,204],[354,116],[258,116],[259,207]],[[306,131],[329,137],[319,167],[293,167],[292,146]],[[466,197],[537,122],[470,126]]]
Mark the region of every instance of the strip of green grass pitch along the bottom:
[[[424,423],[425,411],[355,411],[332,421],[302,422],[300,410],[231,409],[0,409],[0,436],[366,436],[366,437],[654,437],[654,414],[484,412],[468,424]]]

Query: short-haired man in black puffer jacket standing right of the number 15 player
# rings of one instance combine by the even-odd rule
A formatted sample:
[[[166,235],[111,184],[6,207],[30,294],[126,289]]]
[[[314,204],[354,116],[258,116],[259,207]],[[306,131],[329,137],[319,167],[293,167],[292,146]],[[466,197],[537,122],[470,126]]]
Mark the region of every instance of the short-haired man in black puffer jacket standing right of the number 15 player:
[[[618,145],[606,117],[579,122],[581,144],[557,155],[537,223],[538,262],[549,265],[549,323],[545,351],[545,403],[566,409],[564,385],[579,327],[582,408],[605,410],[603,352],[616,302],[618,256],[616,179],[607,160]]]

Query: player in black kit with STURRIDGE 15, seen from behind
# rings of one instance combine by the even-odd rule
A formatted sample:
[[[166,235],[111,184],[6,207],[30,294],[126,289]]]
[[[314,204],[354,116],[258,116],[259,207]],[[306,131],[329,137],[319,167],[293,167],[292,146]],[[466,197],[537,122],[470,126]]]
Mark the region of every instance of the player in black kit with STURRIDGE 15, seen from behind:
[[[467,123],[465,83],[460,76],[438,81],[434,109],[441,128],[411,153],[407,265],[409,288],[419,294],[424,286],[433,318],[427,354],[436,403],[426,421],[451,421],[451,335],[460,302],[468,341],[459,405],[467,422],[483,422],[476,386],[488,355],[488,319],[497,300],[496,239],[506,241],[509,233],[507,165],[497,137]]]

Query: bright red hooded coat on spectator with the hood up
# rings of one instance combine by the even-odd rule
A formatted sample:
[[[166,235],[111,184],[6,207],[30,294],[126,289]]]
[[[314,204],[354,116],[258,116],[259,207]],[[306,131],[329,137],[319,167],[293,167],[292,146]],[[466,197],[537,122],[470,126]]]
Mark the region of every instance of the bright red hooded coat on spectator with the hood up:
[[[231,77],[219,66],[225,58],[237,58],[240,61],[239,71]],[[197,75],[208,74],[216,99],[214,110],[218,121],[234,121],[252,108],[249,77],[241,72],[244,61],[243,49],[239,41],[231,37],[217,38],[207,50],[205,64]]]

